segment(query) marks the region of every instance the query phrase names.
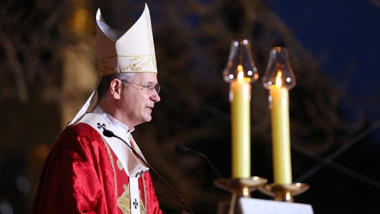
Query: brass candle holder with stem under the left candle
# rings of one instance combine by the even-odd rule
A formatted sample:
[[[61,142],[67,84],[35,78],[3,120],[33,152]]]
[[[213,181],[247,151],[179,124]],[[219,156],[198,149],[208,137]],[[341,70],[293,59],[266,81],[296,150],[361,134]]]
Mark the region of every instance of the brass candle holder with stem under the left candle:
[[[263,177],[248,177],[244,179],[222,178],[214,181],[215,186],[232,193],[229,214],[236,213],[236,201],[240,197],[251,197],[251,192],[268,182]]]

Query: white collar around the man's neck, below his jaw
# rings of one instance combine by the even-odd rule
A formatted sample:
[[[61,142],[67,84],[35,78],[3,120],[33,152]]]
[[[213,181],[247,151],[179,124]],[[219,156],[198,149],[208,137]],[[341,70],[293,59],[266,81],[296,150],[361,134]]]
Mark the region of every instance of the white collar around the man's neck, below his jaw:
[[[120,137],[122,137],[123,139],[128,139],[128,141],[130,140],[129,135],[132,131],[135,130],[134,127],[132,127],[129,131],[127,125],[110,116],[108,113],[104,111],[103,108],[101,108],[100,105],[96,105],[95,108],[92,110],[92,113],[99,115],[101,118],[103,118],[103,120],[112,124],[112,126],[115,128],[117,132],[116,134],[118,134]]]

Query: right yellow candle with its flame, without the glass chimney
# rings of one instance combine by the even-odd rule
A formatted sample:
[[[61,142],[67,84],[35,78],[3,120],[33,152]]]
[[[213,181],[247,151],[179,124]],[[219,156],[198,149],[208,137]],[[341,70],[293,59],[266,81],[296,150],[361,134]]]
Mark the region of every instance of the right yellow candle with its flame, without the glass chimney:
[[[276,85],[270,86],[270,109],[272,117],[272,151],[275,184],[291,184],[289,95],[282,87],[281,71],[278,71]]]

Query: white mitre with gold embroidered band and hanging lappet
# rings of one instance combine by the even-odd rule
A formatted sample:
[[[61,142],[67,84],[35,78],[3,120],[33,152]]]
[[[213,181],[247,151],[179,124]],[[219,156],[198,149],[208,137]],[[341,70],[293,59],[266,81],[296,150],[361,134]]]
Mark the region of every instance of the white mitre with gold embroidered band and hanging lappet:
[[[140,18],[129,29],[117,30],[108,26],[100,9],[96,13],[96,23],[98,80],[95,90],[68,125],[77,123],[89,110],[101,77],[117,73],[157,73],[155,45],[146,4]]]

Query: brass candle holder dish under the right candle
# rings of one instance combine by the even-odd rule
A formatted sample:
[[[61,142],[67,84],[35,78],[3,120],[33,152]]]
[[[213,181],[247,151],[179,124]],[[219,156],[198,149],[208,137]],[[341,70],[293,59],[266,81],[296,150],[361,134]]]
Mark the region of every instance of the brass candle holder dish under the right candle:
[[[259,191],[265,195],[272,196],[276,201],[294,202],[297,196],[310,188],[308,184],[267,184],[259,187]]]

